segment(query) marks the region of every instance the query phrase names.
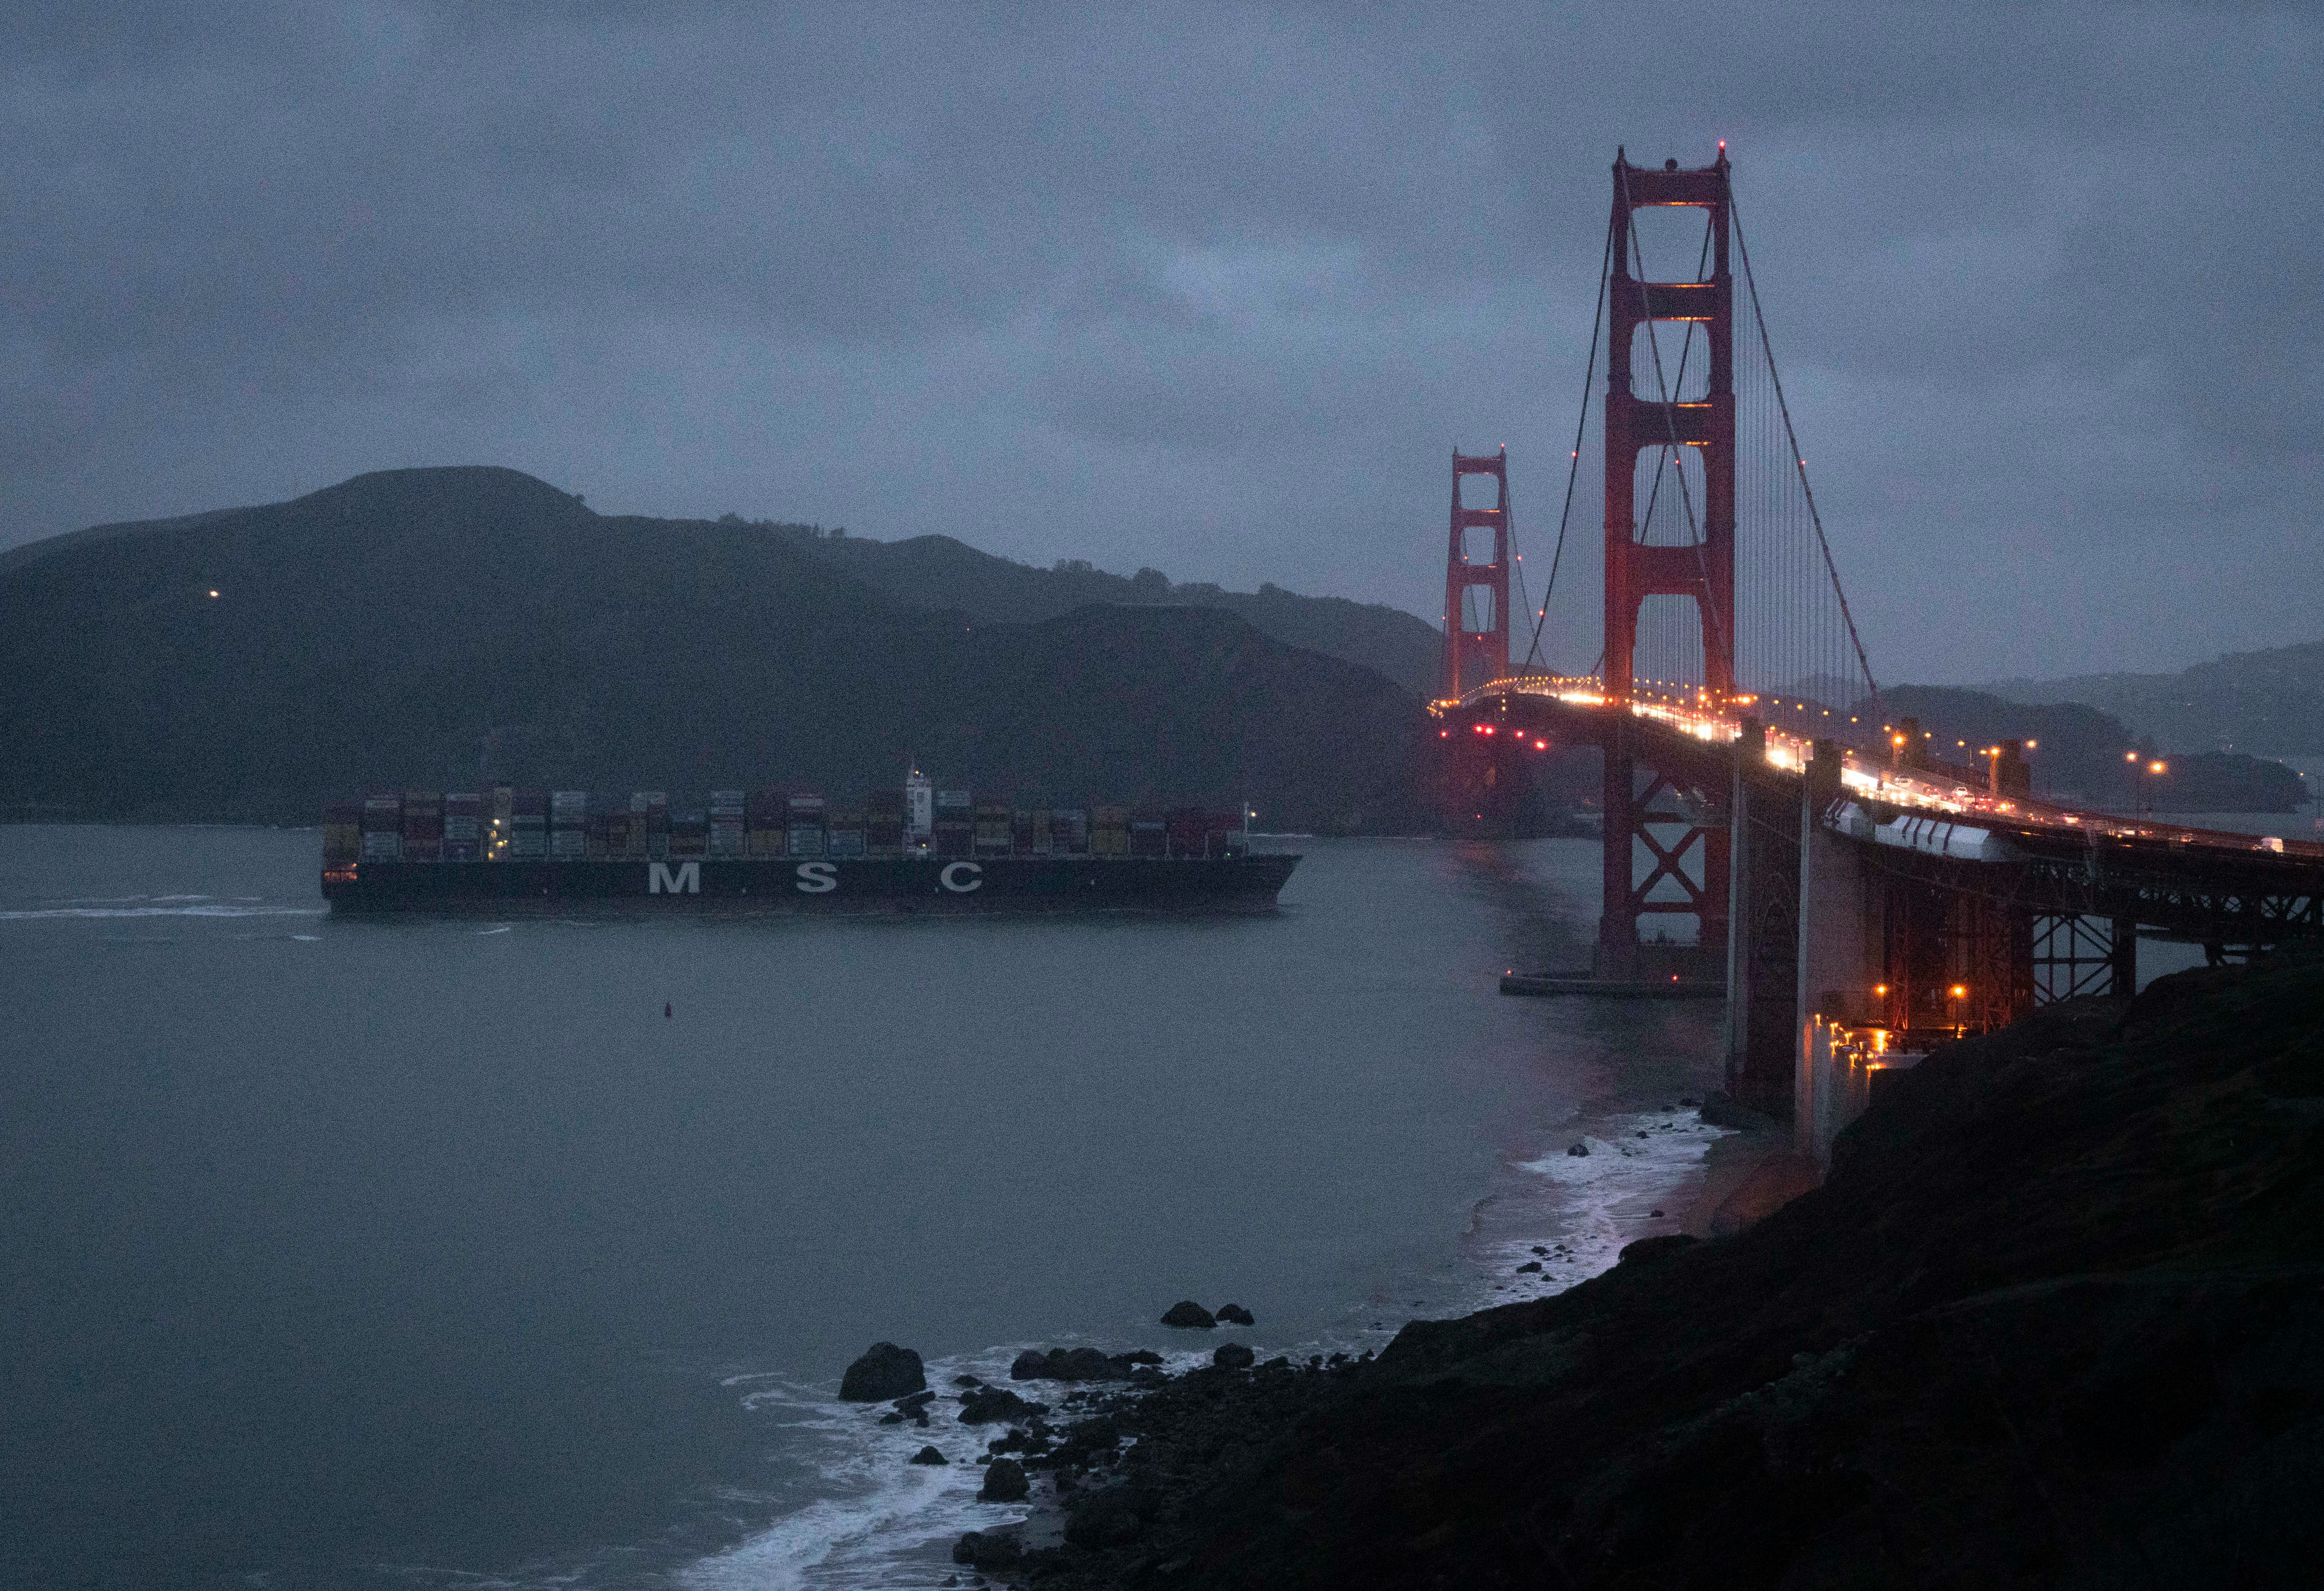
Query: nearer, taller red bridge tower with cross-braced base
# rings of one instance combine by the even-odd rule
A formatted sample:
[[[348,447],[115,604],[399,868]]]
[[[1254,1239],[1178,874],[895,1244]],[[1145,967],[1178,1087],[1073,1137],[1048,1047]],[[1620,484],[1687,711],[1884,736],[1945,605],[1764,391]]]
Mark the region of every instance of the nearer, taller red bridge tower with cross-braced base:
[[[1638,281],[1631,276],[1631,214],[1690,204],[1708,211],[1708,281]],[[1717,701],[1736,685],[1736,393],[1734,283],[1727,274],[1727,149],[1713,165],[1678,170],[1613,163],[1613,260],[1606,323],[1606,694],[1636,692],[1638,609],[1648,597],[1687,597],[1701,622],[1701,687]],[[1710,381],[1697,402],[1678,402],[1680,334],[1641,339],[1641,325],[1701,325]],[[1634,348],[1634,344],[1643,344]],[[1636,518],[1638,455],[1666,451],[1678,476],[1680,537],[1650,546]],[[1701,460],[1701,495],[1687,485],[1685,458]],[[1669,523],[1662,511],[1655,523]],[[1629,718],[1624,715],[1627,725]],[[1673,785],[1629,755],[1620,729],[1606,746],[1606,915],[1599,920],[1599,976],[1636,978],[1664,971],[1641,952],[1638,920],[1692,915],[1699,957],[1720,966],[1727,952],[1724,792]],[[1643,876],[1641,876],[1643,871]],[[1657,934],[1655,938],[1664,938]]]

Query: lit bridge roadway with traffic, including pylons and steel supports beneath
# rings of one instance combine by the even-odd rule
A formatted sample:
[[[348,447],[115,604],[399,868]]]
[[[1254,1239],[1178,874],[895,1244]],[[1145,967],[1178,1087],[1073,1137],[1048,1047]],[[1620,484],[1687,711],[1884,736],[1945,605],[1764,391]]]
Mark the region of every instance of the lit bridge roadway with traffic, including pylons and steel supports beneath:
[[[2126,996],[2140,936],[2215,957],[2324,936],[2324,845],[2001,794],[1985,771],[1787,734],[1750,706],[1515,676],[1432,711],[1471,764],[1515,773],[1548,746],[1592,743],[1666,790],[1659,822],[1687,832],[1645,841],[1673,880],[1638,910],[1697,915],[1694,959],[1671,969],[1724,971],[1729,1078],[1762,1106],[1789,1103],[1824,1024],[1920,1045],[2073,994]],[[1636,880],[1629,850],[1608,836],[1608,892]],[[1664,976],[1655,945],[1606,943],[1618,934],[1634,929],[1608,917],[1601,973]]]

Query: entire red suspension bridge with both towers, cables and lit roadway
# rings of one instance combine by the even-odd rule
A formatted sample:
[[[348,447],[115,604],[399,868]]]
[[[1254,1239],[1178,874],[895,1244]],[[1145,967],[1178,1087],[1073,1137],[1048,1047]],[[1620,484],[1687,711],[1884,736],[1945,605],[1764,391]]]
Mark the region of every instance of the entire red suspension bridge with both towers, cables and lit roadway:
[[[1583,471],[1592,420],[1597,481]],[[1957,764],[1882,711],[1783,397],[1724,144],[1706,167],[1613,163],[1538,604],[1513,550],[1506,451],[1455,453],[1452,467],[1432,701],[1446,815],[1506,822],[1541,753],[1604,757],[1592,969],[1511,978],[1511,992],[1724,996],[1729,1092],[1792,1117],[1801,1147],[1824,1154],[1878,1080],[1931,1043],[2061,999],[2126,999],[2140,936],[2215,952],[2324,938],[2324,845],[2066,811],[2033,797],[2024,746]],[[1464,506],[1466,474],[1499,481],[1492,506]],[[1590,490],[1604,650],[1557,674],[1541,662],[1552,609],[1587,634],[1585,613],[1555,597]],[[1522,660],[1513,611],[1532,618]]]

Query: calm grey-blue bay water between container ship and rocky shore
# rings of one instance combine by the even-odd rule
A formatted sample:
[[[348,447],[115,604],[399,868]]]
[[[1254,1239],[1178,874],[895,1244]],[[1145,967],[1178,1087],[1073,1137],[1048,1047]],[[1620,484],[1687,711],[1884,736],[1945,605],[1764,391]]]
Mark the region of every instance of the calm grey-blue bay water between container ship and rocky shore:
[[[0,829],[0,1577],[939,1584],[1009,1510],[830,1403],[871,1340],[1362,1347],[1666,1229],[1717,1013],[1494,994],[1594,843],[1299,848],[1248,917],[367,922],[311,832]]]

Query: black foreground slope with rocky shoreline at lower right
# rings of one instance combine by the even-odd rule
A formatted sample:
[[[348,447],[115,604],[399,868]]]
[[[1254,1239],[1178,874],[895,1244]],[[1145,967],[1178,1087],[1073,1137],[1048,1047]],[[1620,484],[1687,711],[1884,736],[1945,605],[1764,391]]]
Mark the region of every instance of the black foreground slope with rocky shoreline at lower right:
[[[2317,1584],[2324,962],[2057,1006],[1882,1094],[1764,1219],[1378,1359],[960,1389],[988,1496],[1037,1505],[960,1584]]]

